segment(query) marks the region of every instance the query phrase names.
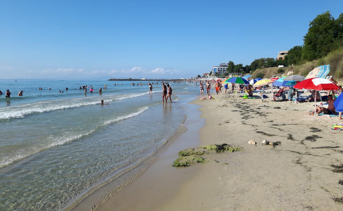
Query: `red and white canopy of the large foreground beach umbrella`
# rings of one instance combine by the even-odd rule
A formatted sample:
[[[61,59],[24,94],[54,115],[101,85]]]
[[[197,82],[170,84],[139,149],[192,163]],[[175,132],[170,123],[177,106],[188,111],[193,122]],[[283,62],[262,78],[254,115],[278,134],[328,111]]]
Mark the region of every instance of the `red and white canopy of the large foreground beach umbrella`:
[[[328,79],[323,79],[323,78],[306,79],[294,85],[294,88],[304,89],[304,90],[318,90],[318,91],[341,89],[338,85],[332,83]]]

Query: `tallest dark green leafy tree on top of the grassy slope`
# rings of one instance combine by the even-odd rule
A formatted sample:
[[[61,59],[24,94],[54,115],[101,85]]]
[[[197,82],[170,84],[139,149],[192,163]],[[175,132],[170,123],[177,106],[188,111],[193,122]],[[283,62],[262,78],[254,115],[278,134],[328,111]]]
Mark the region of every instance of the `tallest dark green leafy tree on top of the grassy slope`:
[[[335,20],[330,11],[326,11],[317,15],[309,26],[301,52],[301,59],[306,61],[319,59],[337,47],[343,35],[343,15]]]

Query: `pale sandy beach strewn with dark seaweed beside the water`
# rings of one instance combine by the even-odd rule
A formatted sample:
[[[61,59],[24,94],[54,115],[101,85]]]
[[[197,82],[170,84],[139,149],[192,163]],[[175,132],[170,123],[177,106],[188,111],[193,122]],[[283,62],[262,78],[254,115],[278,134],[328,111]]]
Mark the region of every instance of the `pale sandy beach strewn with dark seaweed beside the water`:
[[[343,209],[337,200],[343,197],[343,136],[330,128],[337,117],[306,115],[313,103],[213,96],[194,100],[201,118],[197,111],[187,118],[188,131],[97,210]],[[248,144],[251,139],[257,144]],[[262,145],[262,140],[281,144]],[[201,156],[212,159],[208,163],[171,166],[180,150],[222,143],[243,151],[205,150],[209,154]]]

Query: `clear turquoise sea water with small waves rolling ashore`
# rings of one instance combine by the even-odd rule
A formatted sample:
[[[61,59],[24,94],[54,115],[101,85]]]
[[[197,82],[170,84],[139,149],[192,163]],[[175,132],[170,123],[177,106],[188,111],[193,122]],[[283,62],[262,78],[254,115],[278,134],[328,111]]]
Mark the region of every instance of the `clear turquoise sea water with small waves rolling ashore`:
[[[154,153],[199,94],[193,83],[172,83],[175,103],[162,104],[161,84],[149,94],[148,85],[130,83],[0,80],[0,90],[12,93],[0,95],[0,210],[64,210]]]

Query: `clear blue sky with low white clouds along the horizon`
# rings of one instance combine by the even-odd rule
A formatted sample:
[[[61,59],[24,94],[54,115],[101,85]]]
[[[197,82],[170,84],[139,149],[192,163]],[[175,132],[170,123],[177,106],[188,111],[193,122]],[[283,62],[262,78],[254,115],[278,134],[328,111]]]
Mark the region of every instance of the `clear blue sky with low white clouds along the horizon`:
[[[303,44],[317,14],[337,18],[342,8],[341,0],[0,0],[1,78],[192,77],[229,60],[275,58]]]

